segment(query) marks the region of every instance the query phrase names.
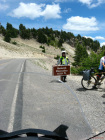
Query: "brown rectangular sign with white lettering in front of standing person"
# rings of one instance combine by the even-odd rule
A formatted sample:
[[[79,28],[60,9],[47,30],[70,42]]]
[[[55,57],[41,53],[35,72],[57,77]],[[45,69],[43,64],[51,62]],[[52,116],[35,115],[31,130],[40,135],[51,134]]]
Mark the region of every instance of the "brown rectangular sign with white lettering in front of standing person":
[[[52,75],[53,76],[70,75],[70,65],[68,65],[68,66],[53,66]]]

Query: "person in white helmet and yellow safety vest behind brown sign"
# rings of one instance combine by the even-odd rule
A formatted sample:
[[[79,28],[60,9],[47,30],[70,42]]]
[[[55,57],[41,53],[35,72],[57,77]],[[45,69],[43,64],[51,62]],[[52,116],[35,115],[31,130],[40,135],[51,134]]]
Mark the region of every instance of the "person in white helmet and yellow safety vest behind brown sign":
[[[67,66],[69,63],[69,59],[66,57],[66,51],[62,51],[62,56],[59,58],[57,65]],[[61,76],[61,81],[66,82],[66,76]]]

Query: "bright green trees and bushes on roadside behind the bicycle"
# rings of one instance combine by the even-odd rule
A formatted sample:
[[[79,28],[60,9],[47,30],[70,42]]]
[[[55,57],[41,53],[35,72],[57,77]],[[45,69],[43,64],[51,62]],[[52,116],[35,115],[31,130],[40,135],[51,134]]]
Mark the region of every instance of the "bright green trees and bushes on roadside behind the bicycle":
[[[94,68],[95,71],[98,70],[100,59],[104,56],[105,48],[100,48],[97,52],[92,51],[90,54],[87,53],[85,47],[81,44],[77,44],[75,49],[74,62],[72,63],[71,72],[72,74],[81,74],[85,69]]]

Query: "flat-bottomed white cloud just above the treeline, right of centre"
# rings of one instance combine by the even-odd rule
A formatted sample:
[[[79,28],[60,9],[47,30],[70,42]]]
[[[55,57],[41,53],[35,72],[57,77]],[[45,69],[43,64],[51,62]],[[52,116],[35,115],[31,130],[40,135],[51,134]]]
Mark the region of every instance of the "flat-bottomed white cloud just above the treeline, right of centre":
[[[63,29],[82,32],[99,30],[95,17],[84,18],[79,16],[72,16],[71,18],[67,19],[67,23],[63,25]]]

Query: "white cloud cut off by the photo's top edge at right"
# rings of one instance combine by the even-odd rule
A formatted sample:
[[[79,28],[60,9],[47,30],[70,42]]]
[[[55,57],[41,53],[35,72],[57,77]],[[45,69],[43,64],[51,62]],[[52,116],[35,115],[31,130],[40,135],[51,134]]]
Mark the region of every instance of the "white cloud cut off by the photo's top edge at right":
[[[98,7],[102,3],[105,3],[105,0],[78,0],[79,2],[86,4],[89,8]]]

